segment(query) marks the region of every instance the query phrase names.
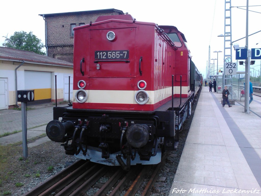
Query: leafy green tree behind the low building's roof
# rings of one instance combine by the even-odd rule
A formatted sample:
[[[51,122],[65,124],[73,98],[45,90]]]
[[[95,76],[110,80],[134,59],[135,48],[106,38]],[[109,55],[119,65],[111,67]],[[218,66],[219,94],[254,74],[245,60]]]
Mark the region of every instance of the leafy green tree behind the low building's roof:
[[[4,47],[32,51],[37,54],[46,55],[45,52],[41,51],[44,44],[33,34],[32,31],[29,33],[16,31],[12,36],[10,36],[10,38],[7,36],[3,37],[5,38],[5,43],[3,43]]]

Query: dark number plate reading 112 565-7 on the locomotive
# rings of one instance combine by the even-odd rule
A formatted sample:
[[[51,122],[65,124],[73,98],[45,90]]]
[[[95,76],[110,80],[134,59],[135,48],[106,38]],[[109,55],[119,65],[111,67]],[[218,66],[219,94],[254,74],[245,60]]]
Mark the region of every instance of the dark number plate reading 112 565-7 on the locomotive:
[[[129,59],[129,50],[99,50],[95,51],[96,60]]]

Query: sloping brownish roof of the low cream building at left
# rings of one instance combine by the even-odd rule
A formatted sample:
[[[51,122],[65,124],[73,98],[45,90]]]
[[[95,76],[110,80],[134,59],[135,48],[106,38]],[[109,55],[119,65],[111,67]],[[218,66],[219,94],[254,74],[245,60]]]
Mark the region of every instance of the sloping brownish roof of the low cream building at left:
[[[23,60],[27,63],[45,64],[45,65],[58,65],[73,67],[73,64],[60,59],[55,59],[49,56],[36,54],[31,51],[18,50],[14,48],[0,47],[0,60],[18,61]]]

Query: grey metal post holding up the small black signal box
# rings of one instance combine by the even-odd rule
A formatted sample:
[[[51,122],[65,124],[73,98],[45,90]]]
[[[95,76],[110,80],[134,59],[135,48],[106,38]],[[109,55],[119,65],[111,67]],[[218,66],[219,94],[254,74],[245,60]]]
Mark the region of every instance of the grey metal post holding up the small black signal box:
[[[23,141],[23,157],[27,157],[27,127],[26,127],[26,102],[21,102],[21,107],[22,107],[22,141]]]

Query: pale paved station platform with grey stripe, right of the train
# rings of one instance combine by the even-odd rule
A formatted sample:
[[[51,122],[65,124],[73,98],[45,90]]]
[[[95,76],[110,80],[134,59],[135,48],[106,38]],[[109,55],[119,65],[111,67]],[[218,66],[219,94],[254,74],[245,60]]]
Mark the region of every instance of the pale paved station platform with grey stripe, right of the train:
[[[261,195],[261,97],[253,98],[246,114],[244,101],[222,107],[222,94],[202,87],[169,196]]]

